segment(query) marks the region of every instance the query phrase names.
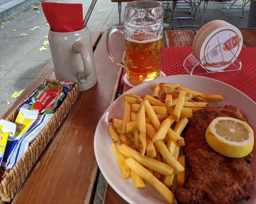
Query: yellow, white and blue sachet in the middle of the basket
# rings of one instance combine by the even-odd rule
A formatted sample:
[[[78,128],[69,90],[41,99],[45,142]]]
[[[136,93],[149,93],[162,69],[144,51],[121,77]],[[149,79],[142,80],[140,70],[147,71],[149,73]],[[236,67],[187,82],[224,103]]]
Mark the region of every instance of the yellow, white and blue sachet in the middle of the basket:
[[[33,125],[34,121],[37,119],[37,115],[38,110],[30,111],[23,108],[20,109],[20,112],[18,113],[17,118],[15,120],[16,131],[14,136],[8,137],[1,166],[7,166],[11,158],[11,155],[14,152],[15,146],[17,145],[21,137],[24,136],[26,132],[30,129],[30,127]]]

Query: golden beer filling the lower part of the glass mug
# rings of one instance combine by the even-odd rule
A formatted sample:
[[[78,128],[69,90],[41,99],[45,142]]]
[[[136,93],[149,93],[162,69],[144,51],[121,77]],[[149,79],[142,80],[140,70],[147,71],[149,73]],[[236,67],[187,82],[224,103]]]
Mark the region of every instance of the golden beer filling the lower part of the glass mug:
[[[145,39],[145,36],[143,36]],[[142,34],[125,40],[126,76],[130,83],[138,85],[158,78],[161,69],[162,38],[142,40]]]

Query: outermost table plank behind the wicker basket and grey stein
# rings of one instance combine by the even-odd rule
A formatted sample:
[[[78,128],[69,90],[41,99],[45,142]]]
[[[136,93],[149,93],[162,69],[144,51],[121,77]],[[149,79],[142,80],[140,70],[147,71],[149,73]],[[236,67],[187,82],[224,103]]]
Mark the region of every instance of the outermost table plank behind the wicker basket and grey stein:
[[[92,38],[92,46],[95,49],[98,41],[101,38],[101,32],[91,32]],[[22,99],[30,93],[34,87],[36,87],[41,81],[50,77],[50,75],[54,72],[53,70],[53,62],[50,60],[48,64],[41,70],[41,72],[37,75],[36,78],[26,87],[26,89],[22,92],[22,94],[16,99],[14,103],[6,110],[2,118],[5,119],[12,110],[17,107],[17,105],[22,101]]]

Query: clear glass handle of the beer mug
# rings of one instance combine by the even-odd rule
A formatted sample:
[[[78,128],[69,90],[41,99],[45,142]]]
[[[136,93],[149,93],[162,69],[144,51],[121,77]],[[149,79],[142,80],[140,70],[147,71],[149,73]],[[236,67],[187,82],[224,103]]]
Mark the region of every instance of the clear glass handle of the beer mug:
[[[122,26],[115,26],[115,27],[112,27],[108,30],[108,33],[107,33],[107,40],[106,40],[106,48],[107,48],[107,54],[108,54],[108,57],[110,58],[110,60],[120,66],[120,67],[124,67],[124,61],[118,61],[116,58],[114,58],[112,52],[111,52],[111,49],[110,49],[110,40],[111,40],[111,35],[113,33],[121,33],[123,34],[123,27]]]

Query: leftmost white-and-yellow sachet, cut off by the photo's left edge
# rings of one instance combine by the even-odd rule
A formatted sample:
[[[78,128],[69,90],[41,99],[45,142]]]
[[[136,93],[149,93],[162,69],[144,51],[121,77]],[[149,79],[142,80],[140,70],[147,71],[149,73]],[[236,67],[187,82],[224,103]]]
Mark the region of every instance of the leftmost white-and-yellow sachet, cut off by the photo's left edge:
[[[4,156],[7,139],[9,136],[14,136],[16,124],[7,120],[0,120],[0,164]]]

